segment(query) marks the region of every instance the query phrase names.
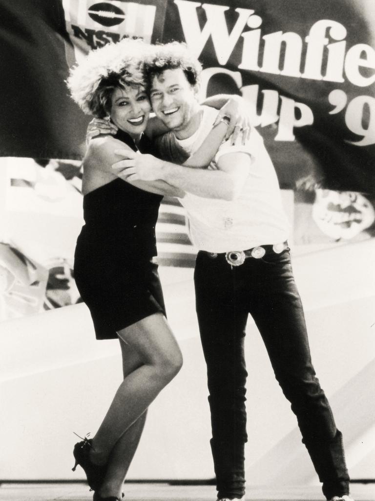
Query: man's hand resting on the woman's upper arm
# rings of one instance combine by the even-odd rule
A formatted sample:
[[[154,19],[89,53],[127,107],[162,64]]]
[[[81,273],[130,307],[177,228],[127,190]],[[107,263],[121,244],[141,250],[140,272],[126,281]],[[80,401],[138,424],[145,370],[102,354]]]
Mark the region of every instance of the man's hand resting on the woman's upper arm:
[[[136,151],[114,150],[122,160],[112,164],[113,172],[125,181],[155,181],[162,179],[162,161],[152,155]]]

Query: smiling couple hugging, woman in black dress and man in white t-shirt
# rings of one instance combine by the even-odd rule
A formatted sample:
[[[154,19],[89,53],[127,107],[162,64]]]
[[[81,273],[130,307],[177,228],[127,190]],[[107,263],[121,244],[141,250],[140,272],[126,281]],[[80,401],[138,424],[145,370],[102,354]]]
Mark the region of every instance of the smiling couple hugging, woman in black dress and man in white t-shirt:
[[[99,429],[74,446],[76,464],[94,501],[118,501],[147,408],[181,368],[153,259],[166,194],[185,207],[199,249],[196,313],[217,499],[244,496],[250,314],[323,494],[350,501],[342,436],[311,363],[274,167],[240,97],[198,102],[200,71],[184,44],[123,40],[92,51],[68,79],[72,98],[96,117],[83,160],[74,276],[96,338],[118,339],[123,365]]]

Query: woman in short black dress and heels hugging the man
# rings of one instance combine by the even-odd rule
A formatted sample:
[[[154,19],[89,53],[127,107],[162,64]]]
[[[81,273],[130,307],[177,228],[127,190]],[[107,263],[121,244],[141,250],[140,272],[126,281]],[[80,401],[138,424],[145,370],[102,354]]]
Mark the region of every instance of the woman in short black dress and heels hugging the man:
[[[74,276],[88,306],[97,339],[119,340],[123,381],[91,439],[74,446],[94,501],[116,501],[137,447],[148,405],[177,374],[182,356],[165,318],[157,275],[155,224],[163,194],[183,195],[162,181],[125,182],[111,165],[113,151],[152,153],[143,134],[150,103],[143,87],[142,61],[149,50],[124,40],[98,49],[68,79],[73,99],[99,119],[110,117],[115,136],[89,142],[83,161],[83,214]],[[227,131],[220,123],[189,166],[207,165]],[[75,468],[74,468],[75,469]]]

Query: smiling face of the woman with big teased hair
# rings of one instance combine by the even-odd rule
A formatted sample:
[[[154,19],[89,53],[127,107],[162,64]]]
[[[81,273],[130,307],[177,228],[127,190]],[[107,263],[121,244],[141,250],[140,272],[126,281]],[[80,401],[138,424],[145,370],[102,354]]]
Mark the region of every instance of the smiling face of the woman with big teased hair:
[[[146,128],[151,106],[143,87],[117,87],[111,97],[110,118],[117,127],[136,138]]]

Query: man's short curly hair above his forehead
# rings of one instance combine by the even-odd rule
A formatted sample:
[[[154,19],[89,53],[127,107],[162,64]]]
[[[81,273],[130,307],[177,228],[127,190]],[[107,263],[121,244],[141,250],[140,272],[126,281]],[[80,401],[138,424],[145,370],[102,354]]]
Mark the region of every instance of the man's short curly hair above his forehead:
[[[150,90],[154,76],[165,70],[181,68],[190,85],[200,81],[202,66],[182,42],[170,42],[164,45],[153,45],[147,54],[144,64],[144,76],[147,91]]]

